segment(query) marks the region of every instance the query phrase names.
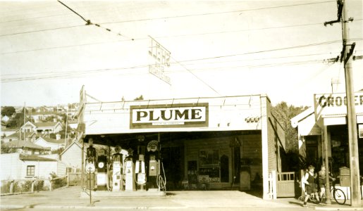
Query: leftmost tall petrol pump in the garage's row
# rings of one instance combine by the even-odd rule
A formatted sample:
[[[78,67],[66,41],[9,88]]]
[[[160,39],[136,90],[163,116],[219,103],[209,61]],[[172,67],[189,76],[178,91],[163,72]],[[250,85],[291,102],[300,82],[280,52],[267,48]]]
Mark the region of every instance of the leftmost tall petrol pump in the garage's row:
[[[94,190],[97,188],[95,183],[95,169],[96,169],[96,160],[97,160],[97,151],[96,148],[93,147],[93,139],[88,140],[88,148],[86,153],[86,163],[85,163],[85,171],[86,171],[86,188],[89,190]]]

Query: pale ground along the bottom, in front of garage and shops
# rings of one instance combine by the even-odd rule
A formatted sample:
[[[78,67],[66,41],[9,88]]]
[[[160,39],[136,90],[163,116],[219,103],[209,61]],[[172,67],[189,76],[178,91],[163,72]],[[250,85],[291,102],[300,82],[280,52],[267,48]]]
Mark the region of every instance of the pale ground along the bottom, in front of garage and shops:
[[[25,193],[11,196],[1,196],[0,209],[90,209],[90,210],[180,210],[184,208],[223,208],[223,207],[269,207],[296,208],[302,207],[295,198],[278,198],[277,200],[262,200],[241,191],[168,191],[166,196],[147,197],[81,197],[80,186],[70,186],[54,191]],[[349,201],[348,201],[349,203]],[[363,210],[363,206],[350,205],[309,205],[315,210]]]

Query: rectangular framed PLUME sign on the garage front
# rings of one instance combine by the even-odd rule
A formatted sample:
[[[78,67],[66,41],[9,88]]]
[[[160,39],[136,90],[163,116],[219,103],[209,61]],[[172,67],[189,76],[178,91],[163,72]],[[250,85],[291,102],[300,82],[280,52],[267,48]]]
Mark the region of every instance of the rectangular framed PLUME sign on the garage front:
[[[130,129],[208,127],[208,103],[130,106]]]

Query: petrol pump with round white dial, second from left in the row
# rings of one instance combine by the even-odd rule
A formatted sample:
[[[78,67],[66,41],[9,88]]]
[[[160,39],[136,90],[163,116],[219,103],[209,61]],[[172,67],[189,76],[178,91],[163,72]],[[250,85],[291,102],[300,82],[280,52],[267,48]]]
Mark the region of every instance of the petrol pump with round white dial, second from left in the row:
[[[105,151],[102,149],[99,151],[97,157],[97,190],[106,191],[108,177],[107,177],[107,157]]]

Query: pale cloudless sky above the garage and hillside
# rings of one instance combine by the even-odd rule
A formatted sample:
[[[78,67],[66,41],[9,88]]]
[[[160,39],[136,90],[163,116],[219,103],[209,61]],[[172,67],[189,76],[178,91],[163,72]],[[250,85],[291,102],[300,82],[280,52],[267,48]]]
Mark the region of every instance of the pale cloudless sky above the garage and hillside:
[[[345,6],[358,58],[362,1]],[[83,86],[99,101],[267,94],[313,106],[314,94],[345,91],[331,61],[342,25],[324,26],[337,13],[327,0],[0,1],[1,106],[78,103]],[[170,52],[170,84],[149,72],[152,39]],[[352,61],[355,91],[362,67]]]

